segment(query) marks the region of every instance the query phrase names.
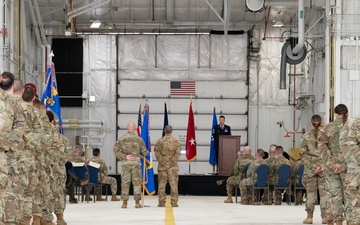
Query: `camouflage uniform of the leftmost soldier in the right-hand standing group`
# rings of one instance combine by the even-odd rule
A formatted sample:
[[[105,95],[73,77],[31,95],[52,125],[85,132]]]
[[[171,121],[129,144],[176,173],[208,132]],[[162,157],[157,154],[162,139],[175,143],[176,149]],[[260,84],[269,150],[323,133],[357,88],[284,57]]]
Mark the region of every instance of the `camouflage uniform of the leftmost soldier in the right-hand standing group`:
[[[305,211],[314,211],[317,202],[317,190],[320,194],[321,217],[331,220],[326,214],[326,190],[324,172],[315,173],[317,167],[323,167],[320,151],[317,147],[315,128],[302,136],[300,146],[301,159],[304,162],[303,184],[306,188]]]

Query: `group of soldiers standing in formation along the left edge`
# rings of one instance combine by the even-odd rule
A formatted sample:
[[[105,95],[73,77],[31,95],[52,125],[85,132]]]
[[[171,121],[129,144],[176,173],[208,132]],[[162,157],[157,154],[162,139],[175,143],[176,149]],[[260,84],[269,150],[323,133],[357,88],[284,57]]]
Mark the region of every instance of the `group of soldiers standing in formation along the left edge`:
[[[73,147],[35,90],[0,76],[0,216],[4,225],[66,225],[65,163]]]

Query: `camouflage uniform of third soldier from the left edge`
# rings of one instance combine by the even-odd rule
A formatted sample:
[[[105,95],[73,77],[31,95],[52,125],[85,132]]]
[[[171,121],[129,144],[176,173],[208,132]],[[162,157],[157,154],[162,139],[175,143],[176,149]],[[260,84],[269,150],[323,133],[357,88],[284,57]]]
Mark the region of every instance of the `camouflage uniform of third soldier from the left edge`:
[[[17,100],[23,109],[25,122],[27,125],[27,129],[24,135],[24,158],[26,160],[19,162],[19,164],[23,164],[22,167],[26,168],[24,173],[27,175],[28,185],[24,190],[24,200],[20,202],[20,211],[23,213],[25,218],[31,218],[34,192],[39,182],[36,173],[34,154],[36,148],[38,147],[39,139],[41,138],[41,129],[39,127],[39,121],[37,121],[37,117],[35,115],[34,107],[24,102],[21,98],[17,98]]]

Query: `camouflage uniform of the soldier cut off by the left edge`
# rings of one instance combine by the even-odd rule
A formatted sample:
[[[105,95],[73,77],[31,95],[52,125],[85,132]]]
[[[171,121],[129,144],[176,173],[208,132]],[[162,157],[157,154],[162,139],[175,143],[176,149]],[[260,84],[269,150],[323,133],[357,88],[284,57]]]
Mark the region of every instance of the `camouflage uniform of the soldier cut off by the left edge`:
[[[14,109],[8,94],[0,89],[0,217],[3,215],[3,197],[8,185],[8,166],[5,151],[10,149],[9,135],[14,117]]]

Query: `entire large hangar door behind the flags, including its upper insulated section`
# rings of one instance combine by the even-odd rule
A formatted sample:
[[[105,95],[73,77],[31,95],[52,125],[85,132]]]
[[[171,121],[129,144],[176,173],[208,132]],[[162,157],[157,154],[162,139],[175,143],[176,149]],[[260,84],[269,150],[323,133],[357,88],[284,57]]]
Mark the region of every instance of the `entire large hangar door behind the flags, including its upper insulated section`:
[[[120,36],[118,70],[118,116],[120,137],[129,121],[137,122],[139,104],[150,107],[152,148],[161,138],[164,103],[173,135],[182,142],[188,124],[192,99],[197,142],[197,158],[189,163],[180,157],[180,174],[212,172],[209,164],[213,107],[217,117],[224,115],[233,135],[248,142],[247,37],[228,36]],[[195,83],[193,96],[176,95],[174,83]],[[157,162],[152,154],[155,173]],[[118,165],[118,171],[120,167]]]

